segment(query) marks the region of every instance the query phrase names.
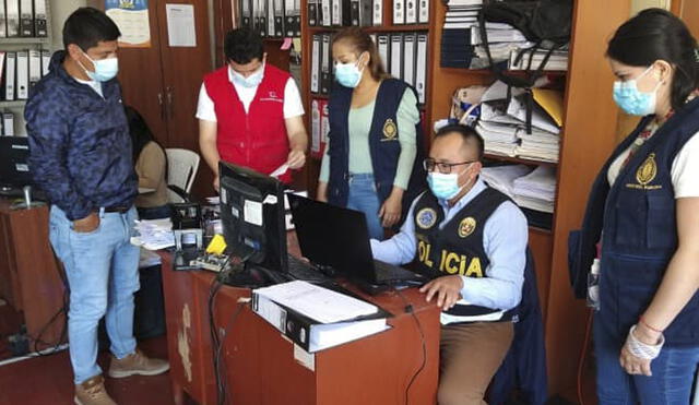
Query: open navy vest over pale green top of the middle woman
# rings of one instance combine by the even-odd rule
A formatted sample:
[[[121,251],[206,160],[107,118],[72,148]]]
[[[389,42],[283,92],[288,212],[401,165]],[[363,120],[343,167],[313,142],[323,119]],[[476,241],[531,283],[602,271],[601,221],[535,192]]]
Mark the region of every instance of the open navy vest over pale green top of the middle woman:
[[[386,79],[379,85],[379,92],[374,107],[371,129],[369,132],[369,151],[371,153],[371,166],[374,180],[381,203],[389,196],[393,188],[393,179],[398,169],[398,158],[401,154],[401,144],[398,136],[398,107],[408,85],[396,79]],[[412,87],[411,87],[412,88]],[[415,92],[414,88],[412,88]],[[350,133],[348,117],[352,104],[350,87],[335,84],[328,102],[330,120],[330,178],[328,180],[328,202],[339,206],[347,205],[348,194],[348,155]],[[425,172],[422,170],[422,162],[425,157],[424,135],[422,122],[415,126],[417,154],[413,164],[413,172],[403,195],[403,215],[407,212],[410,203],[425,189]]]

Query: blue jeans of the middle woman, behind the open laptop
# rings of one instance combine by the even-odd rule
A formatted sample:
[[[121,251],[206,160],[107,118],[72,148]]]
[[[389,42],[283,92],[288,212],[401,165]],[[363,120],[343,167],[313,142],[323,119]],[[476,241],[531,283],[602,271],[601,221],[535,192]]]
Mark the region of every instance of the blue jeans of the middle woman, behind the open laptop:
[[[367,218],[369,237],[383,240],[383,227],[379,218],[381,202],[376,192],[376,183],[372,174],[351,175],[350,195],[347,196],[347,209],[362,211]]]

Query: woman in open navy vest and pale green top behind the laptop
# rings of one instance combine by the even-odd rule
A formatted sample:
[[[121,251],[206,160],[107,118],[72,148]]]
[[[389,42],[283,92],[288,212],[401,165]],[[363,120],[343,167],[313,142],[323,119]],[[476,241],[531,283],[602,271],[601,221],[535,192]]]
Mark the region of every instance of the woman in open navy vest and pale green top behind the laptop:
[[[328,103],[318,200],[364,212],[370,237],[381,240],[383,227],[401,222],[424,178],[413,176],[423,155],[417,97],[386,73],[374,40],[360,28],[340,32],[332,55],[337,85]]]

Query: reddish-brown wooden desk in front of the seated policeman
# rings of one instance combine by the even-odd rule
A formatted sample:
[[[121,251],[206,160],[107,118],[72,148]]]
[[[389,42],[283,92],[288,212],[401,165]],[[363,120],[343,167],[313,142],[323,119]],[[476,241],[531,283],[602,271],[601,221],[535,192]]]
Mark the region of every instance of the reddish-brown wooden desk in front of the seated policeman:
[[[182,404],[186,392],[199,404],[215,404],[216,386],[208,312],[209,290],[214,274],[203,271],[174,272],[170,254],[162,255],[167,344],[175,403]],[[425,367],[411,386],[408,403],[434,404],[439,370],[439,309],[434,303],[426,303],[424,295],[417,289],[404,290],[402,295],[413,306],[419,319],[426,347]],[[225,360],[229,403],[406,403],[405,389],[420,367],[423,348],[415,320],[405,313],[405,303],[394,293],[369,298],[394,314],[388,320],[393,326],[391,330],[316,353],[315,370],[297,362],[294,358],[294,344],[248,306],[230,323],[240,297],[250,297],[250,290],[224,286],[215,301],[214,318],[218,330],[229,329],[222,356]]]

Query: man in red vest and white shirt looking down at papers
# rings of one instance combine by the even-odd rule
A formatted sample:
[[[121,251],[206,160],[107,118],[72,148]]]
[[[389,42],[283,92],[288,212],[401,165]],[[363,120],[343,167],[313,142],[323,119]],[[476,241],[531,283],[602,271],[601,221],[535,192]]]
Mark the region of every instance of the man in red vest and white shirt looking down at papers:
[[[199,146],[214,171],[218,160],[269,175],[306,163],[304,105],[288,72],[265,63],[262,38],[247,27],[226,35],[228,63],[204,76],[199,93]],[[289,171],[280,180],[291,183]]]

